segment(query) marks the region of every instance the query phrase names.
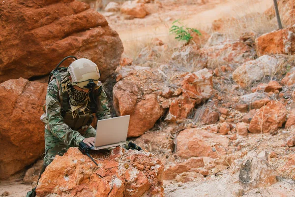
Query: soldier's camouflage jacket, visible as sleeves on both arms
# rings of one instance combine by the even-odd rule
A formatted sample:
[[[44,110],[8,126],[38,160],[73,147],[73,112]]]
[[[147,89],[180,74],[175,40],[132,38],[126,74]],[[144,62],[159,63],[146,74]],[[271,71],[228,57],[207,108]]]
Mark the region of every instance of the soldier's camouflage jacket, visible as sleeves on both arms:
[[[57,80],[53,79],[47,88],[46,113],[41,116],[41,120],[46,124],[45,128],[54,136],[59,138],[66,146],[78,146],[85,139],[78,131],[72,130],[63,121],[61,107],[58,98]],[[96,116],[98,120],[111,118],[110,108],[108,107],[107,96],[104,91],[97,99]],[[46,140],[46,137],[45,137]]]

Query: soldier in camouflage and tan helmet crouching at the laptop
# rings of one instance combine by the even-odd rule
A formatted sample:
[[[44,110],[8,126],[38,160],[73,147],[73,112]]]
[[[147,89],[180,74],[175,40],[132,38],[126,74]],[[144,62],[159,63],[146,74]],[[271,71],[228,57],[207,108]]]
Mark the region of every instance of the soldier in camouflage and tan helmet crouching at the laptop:
[[[111,118],[99,78],[97,65],[85,58],[53,71],[47,88],[46,110],[41,116],[45,123],[45,157],[40,176],[55,156],[62,156],[69,147],[79,146],[81,141],[94,145],[96,130],[90,125],[92,114],[98,120]],[[34,197],[34,189],[27,197]]]

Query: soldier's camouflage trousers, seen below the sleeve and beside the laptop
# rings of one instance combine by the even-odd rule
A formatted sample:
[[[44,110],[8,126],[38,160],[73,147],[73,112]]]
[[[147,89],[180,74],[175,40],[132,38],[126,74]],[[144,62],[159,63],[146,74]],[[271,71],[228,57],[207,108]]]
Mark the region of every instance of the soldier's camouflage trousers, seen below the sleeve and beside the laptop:
[[[80,133],[82,134],[82,132]],[[88,129],[83,132],[82,136],[85,138],[95,137],[96,131],[93,127],[89,126]],[[56,155],[63,156],[63,154],[74,145],[65,145],[58,137],[53,135],[51,131],[45,127],[45,156],[44,165],[49,165],[55,158]]]

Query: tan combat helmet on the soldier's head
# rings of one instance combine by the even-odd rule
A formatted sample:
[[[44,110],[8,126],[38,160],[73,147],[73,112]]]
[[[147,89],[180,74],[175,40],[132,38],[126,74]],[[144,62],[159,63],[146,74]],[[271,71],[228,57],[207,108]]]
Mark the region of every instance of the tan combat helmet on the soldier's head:
[[[81,58],[72,62],[68,67],[68,72],[72,77],[72,85],[83,89],[92,89],[100,86],[100,70],[97,65],[86,58]]]

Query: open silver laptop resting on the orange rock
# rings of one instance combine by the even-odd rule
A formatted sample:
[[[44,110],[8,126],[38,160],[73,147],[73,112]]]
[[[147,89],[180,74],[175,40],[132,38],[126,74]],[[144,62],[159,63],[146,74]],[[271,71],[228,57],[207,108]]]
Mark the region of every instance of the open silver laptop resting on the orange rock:
[[[94,146],[91,150],[101,150],[124,145],[127,139],[130,115],[97,121]]]

